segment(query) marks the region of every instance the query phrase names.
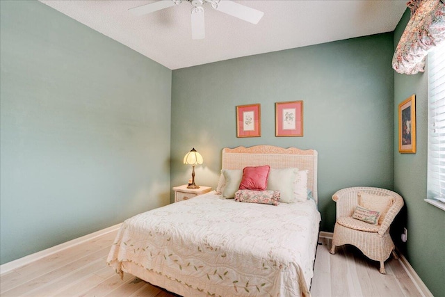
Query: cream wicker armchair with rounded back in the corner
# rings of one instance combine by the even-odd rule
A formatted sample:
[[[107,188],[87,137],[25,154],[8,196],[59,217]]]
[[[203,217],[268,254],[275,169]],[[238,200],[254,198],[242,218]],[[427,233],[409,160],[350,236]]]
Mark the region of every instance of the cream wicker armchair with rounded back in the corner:
[[[394,197],[394,203],[389,208],[381,225],[371,225],[352,218],[355,207],[359,204],[359,192]],[[332,196],[332,200],[337,202],[337,221],[334,227],[330,253],[335,254],[336,246],[351,244],[359,248],[366,257],[379,261],[380,273],[386,274],[384,262],[389,258],[391,252],[394,258],[398,259],[396,252],[394,252],[394,242],[391,239],[391,235],[389,235],[389,226],[398,214],[398,211],[403,207],[403,198],[401,195],[393,191],[385,190],[384,188],[354,187],[343,188],[337,191],[337,193],[334,193]],[[349,222],[353,222],[353,224],[357,223],[357,225],[351,226],[350,224],[344,224],[348,225],[348,227],[345,227],[338,223],[339,219],[341,223],[343,220],[348,220]],[[369,226],[369,230],[366,229],[366,225]],[[353,227],[361,230],[353,229]]]

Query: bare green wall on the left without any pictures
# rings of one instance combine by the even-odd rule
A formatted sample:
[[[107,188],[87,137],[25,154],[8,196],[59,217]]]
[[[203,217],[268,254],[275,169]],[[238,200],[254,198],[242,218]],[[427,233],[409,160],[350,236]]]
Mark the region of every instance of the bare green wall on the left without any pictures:
[[[1,264],[170,199],[171,70],[38,1],[0,1]]]

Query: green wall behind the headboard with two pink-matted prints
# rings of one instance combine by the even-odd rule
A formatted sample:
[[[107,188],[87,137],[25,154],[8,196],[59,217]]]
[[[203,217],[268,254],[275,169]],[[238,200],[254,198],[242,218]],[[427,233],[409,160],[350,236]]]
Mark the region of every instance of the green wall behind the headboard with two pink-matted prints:
[[[171,183],[185,184],[192,147],[197,184],[215,187],[223,147],[278,145],[318,151],[321,230],[332,231],[332,194],[393,187],[393,34],[173,70]],[[275,137],[275,102],[304,101],[304,137]],[[236,138],[237,105],[261,104],[261,137]],[[172,198],[170,198],[172,199]]]

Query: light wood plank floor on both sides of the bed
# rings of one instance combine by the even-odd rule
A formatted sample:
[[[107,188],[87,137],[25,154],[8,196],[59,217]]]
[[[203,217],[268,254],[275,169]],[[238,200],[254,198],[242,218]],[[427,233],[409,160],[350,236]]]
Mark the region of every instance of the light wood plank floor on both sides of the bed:
[[[0,295],[7,296],[156,296],[174,297],[129,274],[120,280],[105,263],[116,235],[111,232],[0,275]],[[312,296],[422,296],[398,260],[385,264],[366,259],[353,246],[330,255],[330,239],[321,238],[312,280]]]

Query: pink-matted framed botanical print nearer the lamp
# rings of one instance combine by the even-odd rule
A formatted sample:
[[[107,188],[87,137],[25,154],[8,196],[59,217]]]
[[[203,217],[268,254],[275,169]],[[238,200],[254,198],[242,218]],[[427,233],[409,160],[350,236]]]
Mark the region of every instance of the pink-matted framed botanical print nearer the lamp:
[[[236,106],[236,137],[261,136],[261,104]]]

